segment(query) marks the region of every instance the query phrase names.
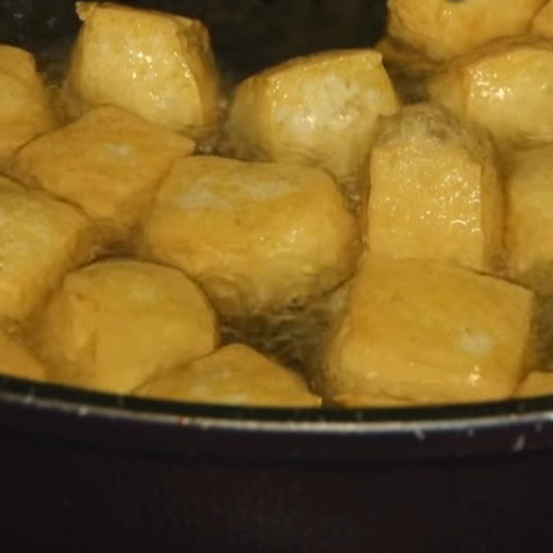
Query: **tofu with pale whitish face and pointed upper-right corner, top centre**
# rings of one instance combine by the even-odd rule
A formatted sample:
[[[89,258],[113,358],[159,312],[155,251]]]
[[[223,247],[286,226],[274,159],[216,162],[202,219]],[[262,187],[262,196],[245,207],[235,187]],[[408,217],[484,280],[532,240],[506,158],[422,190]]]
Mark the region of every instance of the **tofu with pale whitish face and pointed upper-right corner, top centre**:
[[[227,129],[239,158],[320,167],[355,196],[377,120],[398,107],[379,52],[337,50],[246,79]]]

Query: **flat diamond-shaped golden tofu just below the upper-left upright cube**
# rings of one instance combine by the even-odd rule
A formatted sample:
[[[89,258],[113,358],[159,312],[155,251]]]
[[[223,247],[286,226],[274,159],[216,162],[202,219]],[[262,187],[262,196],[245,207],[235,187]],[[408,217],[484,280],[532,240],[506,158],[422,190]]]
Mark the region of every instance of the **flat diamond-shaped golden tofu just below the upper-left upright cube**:
[[[111,245],[129,238],[171,162],[192,151],[189,138],[101,107],[29,142],[13,170],[26,184],[81,207]]]

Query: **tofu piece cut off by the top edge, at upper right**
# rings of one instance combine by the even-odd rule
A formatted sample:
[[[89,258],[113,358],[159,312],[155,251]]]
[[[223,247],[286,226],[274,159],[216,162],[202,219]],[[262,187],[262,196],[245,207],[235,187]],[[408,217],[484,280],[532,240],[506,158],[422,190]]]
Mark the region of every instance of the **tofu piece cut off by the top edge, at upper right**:
[[[431,59],[524,34],[545,0],[388,0],[388,32]]]

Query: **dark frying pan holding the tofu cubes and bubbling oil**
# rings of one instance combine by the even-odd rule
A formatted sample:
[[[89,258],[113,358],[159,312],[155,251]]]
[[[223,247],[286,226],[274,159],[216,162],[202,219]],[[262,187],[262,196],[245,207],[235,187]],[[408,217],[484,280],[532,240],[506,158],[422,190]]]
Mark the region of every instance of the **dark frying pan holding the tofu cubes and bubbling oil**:
[[[365,46],[384,1],[135,1],[203,19],[236,78]],[[69,0],[0,0],[41,62]],[[553,550],[553,398],[285,411],[139,400],[0,377],[0,551]]]

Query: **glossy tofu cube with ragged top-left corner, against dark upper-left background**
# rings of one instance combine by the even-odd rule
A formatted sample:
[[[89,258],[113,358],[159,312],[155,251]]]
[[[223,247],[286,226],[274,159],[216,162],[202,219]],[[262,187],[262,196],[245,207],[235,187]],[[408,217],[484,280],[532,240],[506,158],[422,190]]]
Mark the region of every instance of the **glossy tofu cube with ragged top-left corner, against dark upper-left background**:
[[[66,82],[73,114],[111,104],[193,134],[216,122],[218,77],[200,21],[98,2],[77,2],[77,13],[84,24]]]

